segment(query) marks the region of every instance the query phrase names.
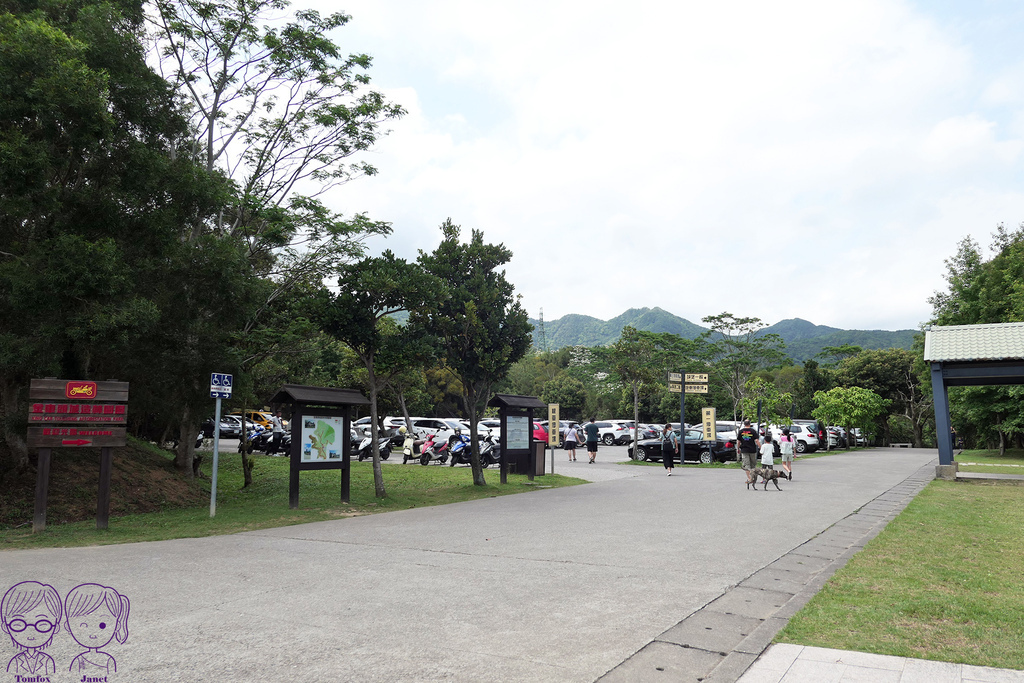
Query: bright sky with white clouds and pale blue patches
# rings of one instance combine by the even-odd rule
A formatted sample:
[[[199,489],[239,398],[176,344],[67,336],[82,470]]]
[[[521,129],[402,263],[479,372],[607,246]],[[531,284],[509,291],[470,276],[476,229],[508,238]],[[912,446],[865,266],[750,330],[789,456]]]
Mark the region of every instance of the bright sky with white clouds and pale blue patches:
[[[445,218],[531,317],[912,329],[973,236],[1024,220],[1024,6],[1009,0],[349,0],[408,115],[333,190],[413,259]]]

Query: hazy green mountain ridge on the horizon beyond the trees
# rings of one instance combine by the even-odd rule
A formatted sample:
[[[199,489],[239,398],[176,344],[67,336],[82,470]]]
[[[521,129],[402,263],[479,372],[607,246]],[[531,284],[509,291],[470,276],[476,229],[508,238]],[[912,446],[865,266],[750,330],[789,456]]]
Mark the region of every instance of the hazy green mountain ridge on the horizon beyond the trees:
[[[541,322],[530,318],[534,326],[534,345],[544,348],[541,340]],[[563,346],[606,346],[618,339],[623,328],[632,325],[645,332],[671,332],[687,339],[695,339],[708,331],[686,318],[660,308],[630,308],[610,321],[590,315],[568,313],[554,321],[544,322],[548,350]],[[826,346],[853,344],[865,349],[910,348],[916,330],[841,330],[824,325],[814,325],[794,317],[779,321],[762,330],[762,334],[777,334],[785,342],[785,350],[796,362],[813,358]]]

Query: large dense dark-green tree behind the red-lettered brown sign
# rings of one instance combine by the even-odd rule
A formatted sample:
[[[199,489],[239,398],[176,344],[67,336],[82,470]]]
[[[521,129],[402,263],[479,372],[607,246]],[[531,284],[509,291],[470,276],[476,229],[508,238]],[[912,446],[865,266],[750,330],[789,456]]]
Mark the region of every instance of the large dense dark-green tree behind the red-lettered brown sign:
[[[140,5],[6,3],[0,13],[0,421],[15,468],[34,376],[132,381],[177,236],[226,185],[146,65]],[[189,468],[190,471],[190,468]]]

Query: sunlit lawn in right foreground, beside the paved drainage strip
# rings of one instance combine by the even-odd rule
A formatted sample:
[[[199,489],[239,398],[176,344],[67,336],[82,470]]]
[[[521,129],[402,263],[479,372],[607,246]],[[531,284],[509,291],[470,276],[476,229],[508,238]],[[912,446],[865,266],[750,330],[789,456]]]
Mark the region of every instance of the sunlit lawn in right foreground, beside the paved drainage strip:
[[[1024,490],[931,482],[776,642],[1024,669]]]

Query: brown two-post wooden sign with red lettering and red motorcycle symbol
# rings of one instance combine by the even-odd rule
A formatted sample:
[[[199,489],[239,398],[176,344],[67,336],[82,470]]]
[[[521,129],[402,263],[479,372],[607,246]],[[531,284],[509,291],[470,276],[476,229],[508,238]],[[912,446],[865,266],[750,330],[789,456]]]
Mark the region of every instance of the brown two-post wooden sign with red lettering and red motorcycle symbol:
[[[99,447],[96,528],[106,528],[111,514],[112,449],[127,442],[128,383],[110,380],[32,380],[29,385],[30,449],[39,449],[36,510],[32,530],[46,528],[46,495],[52,449]]]

